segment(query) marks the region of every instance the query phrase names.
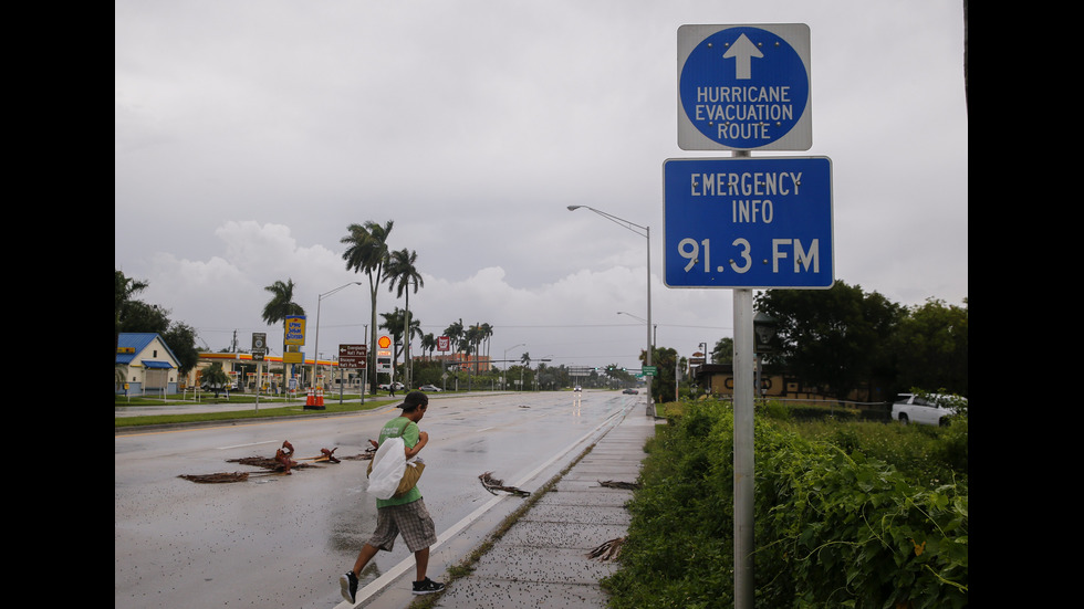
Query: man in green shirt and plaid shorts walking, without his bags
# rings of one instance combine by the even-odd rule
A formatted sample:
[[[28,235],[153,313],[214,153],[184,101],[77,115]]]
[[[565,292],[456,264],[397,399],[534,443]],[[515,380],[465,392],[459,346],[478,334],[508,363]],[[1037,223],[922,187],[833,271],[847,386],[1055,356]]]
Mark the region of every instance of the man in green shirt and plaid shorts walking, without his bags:
[[[411,459],[429,443],[429,434],[418,429],[418,421],[425,417],[426,409],[429,408],[429,398],[421,391],[410,391],[398,408],[403,409],[403,414],[385,423],[378,442],[373,440],[369,442],[379,448],[388,438],[403,438],[406,444],[406,458]],[[362,547],[357,560],[354,561],[354,568],[338,578],[343,598],[354,602],[357,596],[357,576],[361,575],[362,569],[378,550],[390,552],[395,538],[400,534],[407,548],[414,553],[417,566],[414,594],[430,595],[442,590],[444,584],[432,581],[426,576],[429,566],[429,546],[437,543],[437,534],[417,485],[402,496],[376,500],[376,532]]]

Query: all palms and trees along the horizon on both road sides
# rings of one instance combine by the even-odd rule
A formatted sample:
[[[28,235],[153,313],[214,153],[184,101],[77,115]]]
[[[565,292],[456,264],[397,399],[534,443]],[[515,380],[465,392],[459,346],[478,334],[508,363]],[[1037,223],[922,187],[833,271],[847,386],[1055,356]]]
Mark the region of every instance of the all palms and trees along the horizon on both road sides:
[[[371,387],[376,387],[377,371],[373,365],[378,330],[386,330],[394,339],[394,361],[407,363],[405,380],[411,382],[410,345],[418,339],[421,357],[437,350],[437,336],[424,333],[421,324],[410,314],[410,293],[418,293],[425,281],[418,271],[417,253],[406,248],[392,250],[388,238],[393,221],[383,224],[374,221],[352,223],[340,241],[345,249],[342,259],[347,270],[364,273],[368,279],[371,334],[371,364],[367,376]],[[377,323],[377,296],[382,286],[405,298],[405,306],[396,306],[389,313],[379,314]],[[171,322],[169,311],[144,303],[137,295],[147,287],[145,281],[127,277],[116,271],[116,324],[115,335],[122,332],[157,333],[180,359],[180,372],[187,374],[199,359],[195,328]],[[264,287],[271,298],[262,311],[269,325],[284,322],[291,315],[303,315],[304,307],[294,302],[295,285],[292,279],[275,281]],[[774,319],[775,334],[771,338],[771,353],[765,356],[765,369],[798,378],[806,387],[819,387],[827,395],[845,399],[858,387],[877,388],[880,395],[890,397],[911,387],[945,390],[968,395],[968,302],[962,306],[949,305],[930,298],[917,306],[893,303],[877,292],[866,293],[858,285],[837,281],[828,290],[770,290],[755,298],[758,312]],[[458,318],[448,325],[444,336],[450,339],[455,360],[469,361],[471,355],[489,356],[494,327],[489,323],[465,324]],[[729,363],[733,355],[733,339],[723,337],[712,349],[715,363]],[[640,353],[640,360],[646,359]],[[530,354],[520,358],[524,368],[530,367]],[[675,370],[681,365],[677,351],[667,347],[654,347],[653,363],[659,375],[653,382],[656,401],[669,401],[676,395]],[[477,359],[476,359],[477,361]],[[510,368],[508,363],[501,366]],[[616,367],[607,367],[604,375],[614,378]],[[478,367],[473,370],[477,375]],[[541,375],[541,366],[540,372]],[[618,384],[627,385],[622,377]]]

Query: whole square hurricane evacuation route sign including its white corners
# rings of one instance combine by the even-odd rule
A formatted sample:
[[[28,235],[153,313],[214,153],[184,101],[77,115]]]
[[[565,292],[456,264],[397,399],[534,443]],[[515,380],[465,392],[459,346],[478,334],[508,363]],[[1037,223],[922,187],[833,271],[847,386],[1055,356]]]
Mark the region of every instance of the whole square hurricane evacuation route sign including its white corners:
[[[681,149],[809,150],[811,99],[809,25],[678,29]]]

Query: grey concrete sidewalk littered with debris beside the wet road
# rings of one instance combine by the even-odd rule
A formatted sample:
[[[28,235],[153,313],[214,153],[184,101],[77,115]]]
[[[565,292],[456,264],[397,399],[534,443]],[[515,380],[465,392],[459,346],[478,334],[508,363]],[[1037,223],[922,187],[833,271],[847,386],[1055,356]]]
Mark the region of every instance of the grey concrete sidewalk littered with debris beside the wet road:
[[[636,482],[644,442],[654,433],[654,417],[638,405],[496,543],[472,574],[450,582],[436,607],[604,608],[606,592],[598,581],[617,567],[586,554],[626,535],[624,505],[633,493],[598,483]]]

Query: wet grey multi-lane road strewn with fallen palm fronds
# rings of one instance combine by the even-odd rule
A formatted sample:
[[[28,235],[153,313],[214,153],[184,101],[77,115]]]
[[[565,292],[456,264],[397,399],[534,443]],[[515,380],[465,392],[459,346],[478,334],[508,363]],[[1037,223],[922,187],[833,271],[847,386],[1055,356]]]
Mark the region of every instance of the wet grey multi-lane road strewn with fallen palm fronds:
[[[473,395],[434,399],[420,423],[429,433],[419,486],[440,535],[493,496],[483,472],[507,484],[551,475],[579,442],[635,396],[587,391]],[[640,406],[642,408],[642,406]],[[376,526],[365,492],[365,461],[343,460],[292,475],[196,484],[185,474],[259,470],[228,460],[273,456],[283,440],[295,459],[364,452],[397,410],[116,435],[114,452],[114,607],[329,608],[337,577]],[[542,468],[546,465],[549,470]],[[540,473],[541,471],[541,473]],[[535,475],[539,474],[539,475]],[[525,487],[531,490],[531,487]],[[499,503],[496,523],[514,508]],[[455,543],[455,542],[454,542]],[[463,554],[477,539],[459,542]],[[363,573],[364,586],[408,558],[402,542]],[[430,565],[439,575],[448,565]]]

